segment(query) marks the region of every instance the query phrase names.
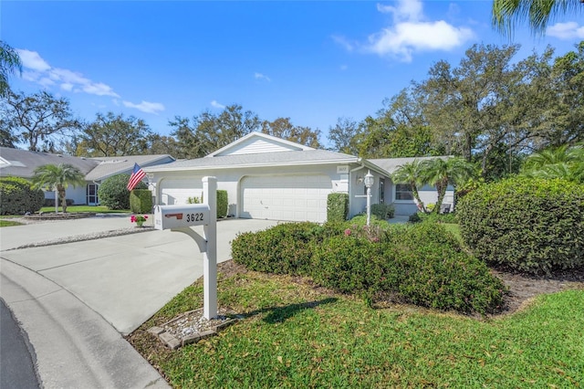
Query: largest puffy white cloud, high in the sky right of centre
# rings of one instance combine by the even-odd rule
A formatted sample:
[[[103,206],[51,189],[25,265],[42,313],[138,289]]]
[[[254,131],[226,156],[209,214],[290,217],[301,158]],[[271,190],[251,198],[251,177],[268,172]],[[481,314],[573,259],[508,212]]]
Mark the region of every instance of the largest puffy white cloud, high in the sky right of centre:
[[[381,57],[410,62],[416,52],[452,50],[474,37],[470,28],[453,26],[444,20],[427,20],[420,0],[400,0],[395,6],[377,5],[377,9],[381,13],[391,14],[393,23],[371,34],[368,42],[361,44],[360,48]],[[336,40],[340,44],[346,42]]]

